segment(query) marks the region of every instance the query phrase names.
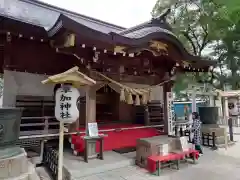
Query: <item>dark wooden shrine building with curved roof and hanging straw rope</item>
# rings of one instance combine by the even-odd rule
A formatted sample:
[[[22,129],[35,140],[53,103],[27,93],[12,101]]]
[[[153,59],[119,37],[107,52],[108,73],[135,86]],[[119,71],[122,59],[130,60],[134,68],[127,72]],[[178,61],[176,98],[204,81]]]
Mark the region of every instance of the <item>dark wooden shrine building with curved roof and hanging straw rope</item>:
[[[174,78],[208,72],[215,62],[191,55],[166,15],[124,28],[35,0],[6,1],[0,9],[3,106],[24,108],[21,135],[58,131],[58,85],[41,82],[73,67],[97,83],[87,98],[79,89],[80,118],[70,131],[89,122],[100,130],[162,125],[172,131]]]

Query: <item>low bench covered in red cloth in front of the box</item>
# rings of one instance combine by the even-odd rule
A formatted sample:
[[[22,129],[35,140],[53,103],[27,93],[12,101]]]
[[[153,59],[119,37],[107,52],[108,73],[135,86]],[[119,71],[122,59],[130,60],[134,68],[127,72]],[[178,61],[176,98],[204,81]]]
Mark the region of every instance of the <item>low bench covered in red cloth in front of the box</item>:
[[[174,153],[169,153],[166,156],[152,155],[147,158],[147,168],[150,173],[160,175],[160,170],[163,168],[163,163],[172,162],[175,164],[177,169],[179,169],[180,160],[185,158],[191,158],[193,163],[199,157],[199,152],[194,149],[189,149],[188,151],[179,151]]]

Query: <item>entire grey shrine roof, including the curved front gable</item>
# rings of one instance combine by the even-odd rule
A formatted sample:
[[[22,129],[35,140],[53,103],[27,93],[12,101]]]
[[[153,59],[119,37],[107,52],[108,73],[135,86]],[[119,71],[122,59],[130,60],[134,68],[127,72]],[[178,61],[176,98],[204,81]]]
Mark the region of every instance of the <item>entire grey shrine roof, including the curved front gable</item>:
[[[199,66],[201,63],[206,66],[216,63],[215,61],[202,60],[200,57],[191,55],[172,32],[163,16],[125,29],[36,0],[7,0],[4,2],[6,2],[4,6],[1,6],[0,2],[0,16],[3,14],[7,18],[18,20],[24,24],[35,25],[32,29],[41,31],[42,34],[45,33],[42,31],[43,27],[50,29],[48,31],[50,37],[52,36],[51,31],[53,34],[57,34],[58,30],[63,27],[84,38],[111,47],[123,45],[127,46],[127,48],[134,47],[137,49],[148,46],[151,40],[164,40],[170,42],[179,50],[182,60],[193,62],[196,65],[199,64]]]

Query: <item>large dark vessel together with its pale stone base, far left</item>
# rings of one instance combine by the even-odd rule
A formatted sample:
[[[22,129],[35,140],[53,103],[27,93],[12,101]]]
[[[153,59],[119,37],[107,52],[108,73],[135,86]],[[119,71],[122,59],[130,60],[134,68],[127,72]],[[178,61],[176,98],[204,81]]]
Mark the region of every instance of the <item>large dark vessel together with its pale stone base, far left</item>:
[[[39,180],[19,139],[22,110],[0,108],[0,180]]]

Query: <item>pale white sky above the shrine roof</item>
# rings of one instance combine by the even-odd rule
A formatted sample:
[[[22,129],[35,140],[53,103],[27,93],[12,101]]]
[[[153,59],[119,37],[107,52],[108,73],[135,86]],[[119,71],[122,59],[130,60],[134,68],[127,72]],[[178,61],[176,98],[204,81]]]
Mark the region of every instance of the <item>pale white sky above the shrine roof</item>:
[[[150,20],[150,13],[156,2],[156,0],[41,1],[126,28]]]

